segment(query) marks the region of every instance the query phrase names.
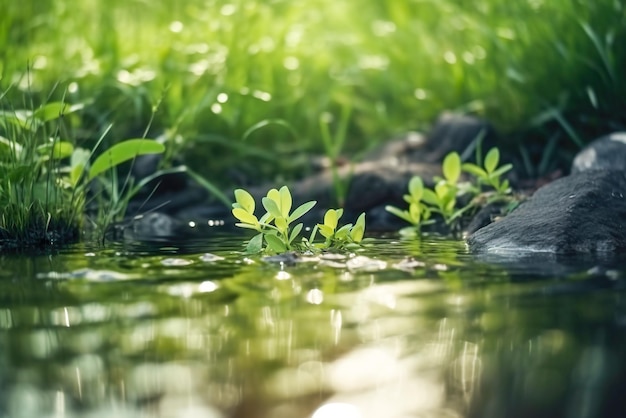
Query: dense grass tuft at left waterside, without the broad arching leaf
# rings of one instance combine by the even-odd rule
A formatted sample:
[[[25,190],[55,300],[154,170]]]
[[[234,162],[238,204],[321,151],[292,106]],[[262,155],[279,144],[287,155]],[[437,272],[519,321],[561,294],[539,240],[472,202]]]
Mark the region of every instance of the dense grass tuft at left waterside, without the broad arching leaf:
[[[78,109],[52,103],[15,109],[0,99],[0,250],[41,249],[75,241],[84,194],[65,187],[61,161],[72,145],[63,116]]]

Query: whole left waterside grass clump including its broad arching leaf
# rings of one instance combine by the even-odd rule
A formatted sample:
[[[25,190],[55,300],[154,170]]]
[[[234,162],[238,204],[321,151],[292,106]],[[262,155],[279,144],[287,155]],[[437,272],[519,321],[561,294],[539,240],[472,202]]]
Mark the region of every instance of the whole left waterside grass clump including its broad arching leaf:
[[[86,219],[104,232],[123,219],[129,200],[157,171],[134,184],[116,167],[163,144],[128,139],[104,149],[104,134],[91,149],[75,140],[84,104],[24,102],[15,109],[0,96],[0,251],[44,250],[74,242]],[[106,132],[105,132],[106,133]],[[85,217],[90,202],[92,215]]]

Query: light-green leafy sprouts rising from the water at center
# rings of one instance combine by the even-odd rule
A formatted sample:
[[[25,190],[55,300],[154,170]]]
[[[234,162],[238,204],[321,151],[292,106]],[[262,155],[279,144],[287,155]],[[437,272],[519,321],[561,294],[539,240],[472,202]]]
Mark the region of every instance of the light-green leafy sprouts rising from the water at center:
[[[359,216],[357,222],[347,224],[339,229],[338,221],[343,214],[342,209],[329,209],[324,215],[324,223],[317,224],[309,239],[301,238],[303,223],[294,222],[308,213],[316,205],[316,201],[309,201],[291,211],[292,197],[287,186],[271,189],[261,199],[266,213],[258,218],[254,212],[256,202],[246,190],[235,190],[235,203],[232,204],[232,213],[240,222],[236,226],[252,229],[256,234],[246,246],[248,253],[261,251],[284,253],[294,249],[327,249],[358,246],[365,233],[365,214]],[[325,238],[323,243],[315,243],[317,232]]]

